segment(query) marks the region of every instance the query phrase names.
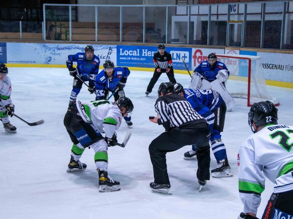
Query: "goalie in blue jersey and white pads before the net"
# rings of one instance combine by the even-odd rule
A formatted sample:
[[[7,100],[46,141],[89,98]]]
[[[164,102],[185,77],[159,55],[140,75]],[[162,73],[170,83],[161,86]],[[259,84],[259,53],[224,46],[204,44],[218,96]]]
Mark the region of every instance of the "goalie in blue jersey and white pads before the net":
[[[208,55],[208,61],[201,62],[194,70],[189,88],[218,91],[226,103],[227,110],[231,111],[235,107],[235,101],[225,86],[229,74],[226,65],[218,61],[217,56],[211,53]]]

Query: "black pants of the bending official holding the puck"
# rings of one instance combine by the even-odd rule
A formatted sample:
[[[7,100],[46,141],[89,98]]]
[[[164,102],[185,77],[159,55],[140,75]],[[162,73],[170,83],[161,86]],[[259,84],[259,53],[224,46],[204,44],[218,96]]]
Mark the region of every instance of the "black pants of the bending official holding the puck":
[[[148,151],[153,165],[154,183],[167,184],[166,153],[180,149],[187,145],[196,145],[197,151],[197,179],[209,180],[209,138],[208,124],[200,123],[188,128],[172,128],[163,132],[149,145]]]

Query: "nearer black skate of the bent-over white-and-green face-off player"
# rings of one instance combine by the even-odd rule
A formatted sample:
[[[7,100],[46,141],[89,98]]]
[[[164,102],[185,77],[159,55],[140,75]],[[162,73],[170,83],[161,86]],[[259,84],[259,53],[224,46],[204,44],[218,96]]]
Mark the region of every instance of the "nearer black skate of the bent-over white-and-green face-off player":
[[[99,192],[114,192],[120,190],[120,183],[113,180],[107,173],[107,171],[100,171],[99,173]]]

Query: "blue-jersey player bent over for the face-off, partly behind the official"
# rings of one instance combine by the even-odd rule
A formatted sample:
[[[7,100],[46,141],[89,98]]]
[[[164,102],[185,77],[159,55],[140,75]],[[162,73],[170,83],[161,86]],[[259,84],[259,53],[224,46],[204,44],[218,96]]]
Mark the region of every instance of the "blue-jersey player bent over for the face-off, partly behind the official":
[[[220,134],[224,128],[226,114],[226,104],[221,95],[210,89],[206,91],[184,89],[179,83],[175,84],[174,87],[175,92],[184,96],[193,109],[208,121],[211,149],[218,164],[215,169],[211,170],[212,177],[232,176],[226,148]],[[192,149],[184,154],[184,159],[196,159],[195,146],[192,146]]]

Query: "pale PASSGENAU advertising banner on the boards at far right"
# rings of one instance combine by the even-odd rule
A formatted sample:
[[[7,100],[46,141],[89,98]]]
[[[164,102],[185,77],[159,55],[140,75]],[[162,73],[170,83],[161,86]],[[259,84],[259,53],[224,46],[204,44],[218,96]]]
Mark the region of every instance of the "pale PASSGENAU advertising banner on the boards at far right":
[[[293,83],[293,54],[257,52],[267,80]]]

